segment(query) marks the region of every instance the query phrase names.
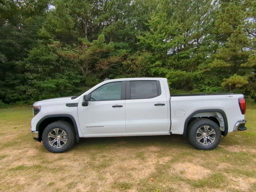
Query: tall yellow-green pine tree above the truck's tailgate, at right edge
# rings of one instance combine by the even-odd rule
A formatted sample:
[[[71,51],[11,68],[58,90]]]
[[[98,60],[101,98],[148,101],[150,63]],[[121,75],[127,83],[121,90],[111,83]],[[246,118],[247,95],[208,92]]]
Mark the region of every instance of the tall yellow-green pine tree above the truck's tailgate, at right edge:
[[[255,1],[223,1],[215,21],[214,33],[218,48],[212,55],[210,66],[212,71],[224,77],[222,86],[228,85],[230,90],[247,85],[248,78],[254,76],[253,5]],[[251,10],[248,6],[251,6]]]

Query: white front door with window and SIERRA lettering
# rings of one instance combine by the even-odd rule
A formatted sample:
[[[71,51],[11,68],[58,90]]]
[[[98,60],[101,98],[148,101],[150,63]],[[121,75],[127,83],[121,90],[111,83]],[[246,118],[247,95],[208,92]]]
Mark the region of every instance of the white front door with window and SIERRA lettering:
[[[125,82],[110,82],[90,93],[88,106],[79,102],[78,118],[84,135],[126,133],[125,99],[121,99],[121,92],[125,92]]]

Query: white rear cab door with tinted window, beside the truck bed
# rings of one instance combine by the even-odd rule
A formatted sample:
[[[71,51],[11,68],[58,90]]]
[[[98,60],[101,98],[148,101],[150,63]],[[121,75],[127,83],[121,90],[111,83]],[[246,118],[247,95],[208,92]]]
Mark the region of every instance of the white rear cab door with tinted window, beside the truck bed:
[[[125,116],[128,133],[168,131],[168,105],[164,82],[126,81]]]

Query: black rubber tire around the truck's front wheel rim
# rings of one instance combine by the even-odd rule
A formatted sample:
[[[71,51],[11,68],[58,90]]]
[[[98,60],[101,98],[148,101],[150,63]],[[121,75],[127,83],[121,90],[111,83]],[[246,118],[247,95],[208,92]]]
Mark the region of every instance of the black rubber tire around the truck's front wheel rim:
[[[62,130],[63,130],[65,135],[66,135],[65,138],[64,138],[66,140],[66,143],[62,142],[61,143],[62,144],[61,147],[60,147],[60,145],[58,145],[58,141],[62,140],[62,138],[60,138],[60,140],[54,142],[53,146],[50,144],[50,142],[48,140],[48,135],[50,133],[52,133],[52,134],[56,133],[54,131],[54,129],[55,130],[59,129],[60,133],[62,133]],[[56,134],[54,134],[54,136],[55,135]],[[55,137],[57,137],[57,135]],[[54,140],[54,138],[51,137],[50,140]],[[72,148],[74,146],[74,144],[75,144],[76,134],[75,134],[75,131],[74,131],[74,127],[70,123],[68,123],[66,121],[56,121],[56,122],[53,122],[53,123],[49,124],[44,129],[43,134],[42,134],[42,141],[43,141],[44,147],[48,151],[50,151],[50,152],[54,152],[54,153],[65,152],[65,151],[69,150],[70,148]],[[59,148],[56,148],[56,147],[59,147]]]

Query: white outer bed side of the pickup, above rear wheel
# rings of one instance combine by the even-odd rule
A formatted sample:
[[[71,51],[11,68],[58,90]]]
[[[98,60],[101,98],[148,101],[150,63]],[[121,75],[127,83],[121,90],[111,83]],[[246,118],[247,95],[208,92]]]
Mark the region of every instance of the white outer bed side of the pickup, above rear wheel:
[[[244,120],[244,115],[240,111],[238,98],[244,98],[243,94],[232,93],[199,93],[199,94],[172,94],[170,95],[171,131],[173,134],[181,134],[187,118],[195,112],[220,112],[218,116],[228,121],[228,132],[234,130],[234,125],[238,120]]]

